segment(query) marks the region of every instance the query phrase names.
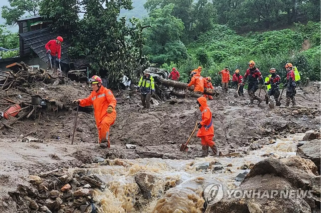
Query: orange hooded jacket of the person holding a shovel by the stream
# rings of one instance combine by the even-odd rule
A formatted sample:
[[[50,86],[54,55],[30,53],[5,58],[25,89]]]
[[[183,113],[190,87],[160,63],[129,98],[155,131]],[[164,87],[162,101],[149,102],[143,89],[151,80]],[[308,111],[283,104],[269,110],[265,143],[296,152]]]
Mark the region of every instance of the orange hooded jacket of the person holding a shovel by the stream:
[[[199,97],[198,102],[201,104],[200,110],[202,112],[202,121],[200,122],[202,127],[197,132],[197,137],[213,135],[214,126],[212,122],[212,112],[210,107],[207,105],[206,98],[204,96]]]

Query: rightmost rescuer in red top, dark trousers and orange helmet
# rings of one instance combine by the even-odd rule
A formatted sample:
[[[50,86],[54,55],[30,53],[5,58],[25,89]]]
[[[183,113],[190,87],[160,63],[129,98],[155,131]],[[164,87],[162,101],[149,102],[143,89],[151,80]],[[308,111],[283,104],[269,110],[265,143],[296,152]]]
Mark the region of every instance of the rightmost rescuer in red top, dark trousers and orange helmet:
[[[287,87],[286,89],[286,104],[285,106],[289,106],[290,105],[290,100],[292,100],[292,105],[295,106],[295,94],[297,93],[297,91],[295,90],[295,87],[297,86],[295,84],[295,74],[293,71],[293,65],[291,63],[287,63],[285,65],[285,69],[286,71],[288,71],[288,73],[286,74],[286,79],[288,80],[286,84],[284,84],[284,86]]]

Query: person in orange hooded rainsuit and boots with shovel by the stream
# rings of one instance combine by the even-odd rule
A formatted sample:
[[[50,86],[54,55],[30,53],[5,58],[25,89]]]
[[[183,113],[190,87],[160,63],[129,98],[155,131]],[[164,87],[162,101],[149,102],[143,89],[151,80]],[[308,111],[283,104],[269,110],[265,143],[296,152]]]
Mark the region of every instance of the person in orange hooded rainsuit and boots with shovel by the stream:
[[[202,121],[198,123],[197,137],[201,138],[202,143],[202,156],[208,155],[208,147],[211,147],[215,156],[219,155],[219,152],[213,141],[214,126],[213,118],[210,107],[207,105],[206,98],[204,96],[197,99],[196,102],[202,112]]]

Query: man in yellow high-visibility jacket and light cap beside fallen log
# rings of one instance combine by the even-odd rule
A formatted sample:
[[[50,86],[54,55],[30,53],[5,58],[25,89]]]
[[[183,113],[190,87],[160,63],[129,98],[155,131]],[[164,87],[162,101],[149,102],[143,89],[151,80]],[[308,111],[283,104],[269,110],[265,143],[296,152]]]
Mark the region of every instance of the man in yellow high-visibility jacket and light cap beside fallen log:
[[[149,69],[145,69],[143,74],[144,75],[139,80],[136,92],[140,89],[143,109],[148,109],[150,108],[150,99],[152,96],[152,92],[155,91],[155,83]]]

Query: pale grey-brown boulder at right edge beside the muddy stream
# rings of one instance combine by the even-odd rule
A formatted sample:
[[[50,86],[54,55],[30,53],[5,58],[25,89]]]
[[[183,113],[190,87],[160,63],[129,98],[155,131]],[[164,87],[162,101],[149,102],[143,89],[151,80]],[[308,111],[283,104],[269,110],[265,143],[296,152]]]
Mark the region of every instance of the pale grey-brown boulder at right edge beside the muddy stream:
[[[321,174],[321,140],[314,139],[297,149],[297,155],[313,161]]]

